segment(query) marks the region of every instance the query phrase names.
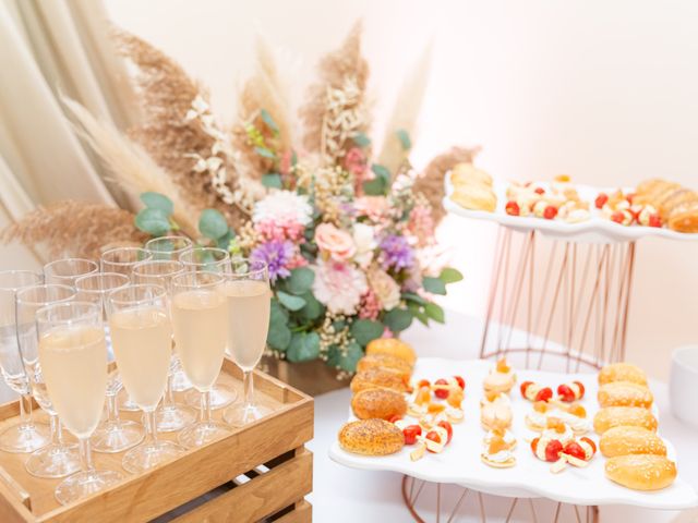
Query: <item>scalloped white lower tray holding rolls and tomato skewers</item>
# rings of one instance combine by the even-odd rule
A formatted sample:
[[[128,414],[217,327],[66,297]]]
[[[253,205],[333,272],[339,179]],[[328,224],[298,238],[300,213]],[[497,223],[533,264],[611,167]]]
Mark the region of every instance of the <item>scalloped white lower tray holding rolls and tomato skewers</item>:
[[[698,494],[693,486],[681,477],[683,466],[677,460],[679,476],[674,484],[663,490],[641,492],[624,488],[606,479],[603,465],[605,458],[600,452],[589,466],[576,469],[568,466],[559,474],[552,474],[550,463],[538,460],[530,450],[527,440],[535,435],[526,428],[524,418],[531,410],[531,403],[524,400],[518,385],[512,391],[514,424],[512,430],[518,439],[515,450],[517,464],[512,469],[492,469],[480,461],[480,450],[484,430],[480,426],[480,399],[482,380],[492,368],[492,362],[481,360],[453,361],[443,358],[420,358],[414,368],[414,377],[430,380],[455,374],[466,379],[466,399],[464,409],[466,419],[454,425],[452,442],[440,454],[426,453],[417,462],[410,461],[409,453],[414,447],[405,447],[400,452],[386,457],[363,457],[345,452],[335,441],[329,457],[346,466],[373,471],[393,471],[420,479],[435,483],[455,483],[488,494],[508,497],[545,497],[556,501],[576,504],[634,504],[651,509],[685,509],[698,506]],[[594,374],[564,374],[540,370],[517,370],[517,384],[525,380],[538,381],[553,387],[578,379],[587,388],[582,404],[589,419],[598,411],[597,379]],[[351,414],[349,421],[356,419]],[[661,418],[660,418],[661,433]],[[599,441],[598,435],[590,431],[587,436]],[[676,460],[674,448],[669,445],[671,459]]]

